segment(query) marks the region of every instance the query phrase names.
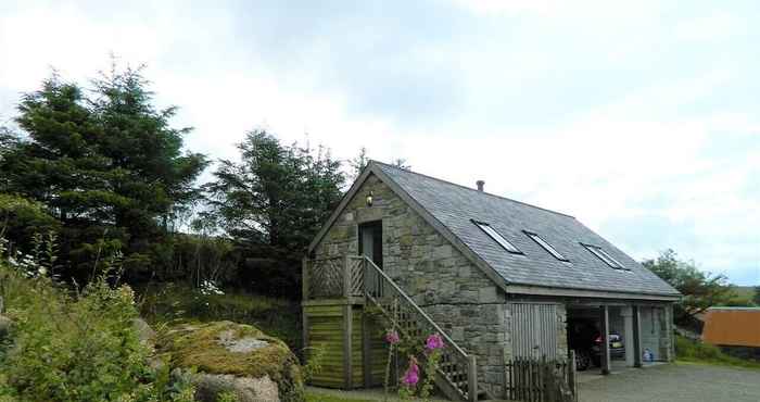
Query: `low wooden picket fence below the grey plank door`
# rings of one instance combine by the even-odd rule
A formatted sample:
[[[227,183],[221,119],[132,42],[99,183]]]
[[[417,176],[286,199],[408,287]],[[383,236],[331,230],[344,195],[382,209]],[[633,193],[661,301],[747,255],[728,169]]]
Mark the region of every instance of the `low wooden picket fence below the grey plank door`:
[[[575,356],[567,361],[516,357],[507,362],[506,395],[512,401],[577,402]]]

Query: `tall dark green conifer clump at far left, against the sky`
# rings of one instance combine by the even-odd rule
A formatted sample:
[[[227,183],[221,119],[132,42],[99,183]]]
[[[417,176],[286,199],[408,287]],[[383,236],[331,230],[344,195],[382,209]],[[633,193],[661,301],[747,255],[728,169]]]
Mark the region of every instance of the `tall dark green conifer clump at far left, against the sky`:
[[[53,75],[23,96],[16,123],[26,136],[2,151],[2,191],[61,222],[72,276],[116,250],[134,274],[148,273],[166,263],[167,223],[200,197],[193,184],[207,162],[181,151],[190,128],[170,126],[175,108],[155,110],[141,68],[114,67],[93,85],[88,97]]]

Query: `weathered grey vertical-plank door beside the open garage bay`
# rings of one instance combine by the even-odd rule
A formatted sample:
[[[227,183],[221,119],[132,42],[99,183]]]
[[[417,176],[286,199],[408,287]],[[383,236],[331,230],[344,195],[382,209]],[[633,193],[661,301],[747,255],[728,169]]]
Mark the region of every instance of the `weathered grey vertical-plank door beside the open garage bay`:
[[[557,359],[557,304],[511,304],[512,356]]]

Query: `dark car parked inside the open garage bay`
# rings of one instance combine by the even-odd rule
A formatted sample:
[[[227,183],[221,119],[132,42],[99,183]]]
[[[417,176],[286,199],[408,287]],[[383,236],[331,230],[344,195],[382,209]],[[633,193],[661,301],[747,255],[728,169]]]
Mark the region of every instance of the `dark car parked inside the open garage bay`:
[[[623,337],[616,331],[609,334],[610,359],[624,359]],[[575,367],[585,370],[601,362],[601,331],[593,319],[571,319],[568,322],[568,347],[575,351]]]

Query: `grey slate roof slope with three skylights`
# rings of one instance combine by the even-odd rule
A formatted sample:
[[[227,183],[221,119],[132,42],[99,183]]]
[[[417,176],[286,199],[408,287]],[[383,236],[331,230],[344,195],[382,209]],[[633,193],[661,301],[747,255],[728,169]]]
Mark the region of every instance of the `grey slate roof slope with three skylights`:
[[[658,276],[570,215],[375,162],[382,173],[485,261],[507,284],[680,296]],[[523,254],[504,250],[471,219],[485,222]],[[523,230],[535,233],[568,262]],[[613,269],[581,243],[604,249],[628,271]]]

